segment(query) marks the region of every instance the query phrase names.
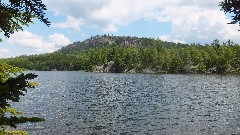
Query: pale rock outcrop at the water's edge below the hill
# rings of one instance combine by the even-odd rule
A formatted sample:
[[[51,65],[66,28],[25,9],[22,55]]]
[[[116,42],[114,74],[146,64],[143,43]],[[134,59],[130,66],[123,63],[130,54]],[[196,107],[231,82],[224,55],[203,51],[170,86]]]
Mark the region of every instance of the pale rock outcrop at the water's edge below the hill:
[[[107,64],[96,65],[93,68],[93,72],[112,73],[114,71],[115,71],[114,61],[109,61]]]

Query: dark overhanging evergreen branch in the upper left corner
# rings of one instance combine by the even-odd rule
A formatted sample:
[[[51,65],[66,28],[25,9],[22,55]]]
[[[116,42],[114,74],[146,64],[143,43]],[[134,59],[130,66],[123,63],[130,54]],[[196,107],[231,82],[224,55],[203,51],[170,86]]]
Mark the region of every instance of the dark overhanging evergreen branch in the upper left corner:
[[[5,3],[0,1],[0,32],[10,37],[15,31],[22,30],[23,25],[33,23],[34,18],[49,26],[50,22],[44,13],[46,10],[42,0],[9,0]]]

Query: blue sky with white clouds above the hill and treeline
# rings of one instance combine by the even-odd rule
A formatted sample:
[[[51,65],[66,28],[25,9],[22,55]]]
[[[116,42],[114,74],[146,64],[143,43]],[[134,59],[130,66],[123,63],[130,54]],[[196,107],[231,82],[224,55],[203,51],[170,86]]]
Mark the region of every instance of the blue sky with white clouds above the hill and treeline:
[[[0,33],[0,58],[51,53],[91,36],[110,34],[159,38],[176,43],[240,44],[240,27],[227,24],[221,0],[43,0],[47,27],[35,19],[10,38]]]

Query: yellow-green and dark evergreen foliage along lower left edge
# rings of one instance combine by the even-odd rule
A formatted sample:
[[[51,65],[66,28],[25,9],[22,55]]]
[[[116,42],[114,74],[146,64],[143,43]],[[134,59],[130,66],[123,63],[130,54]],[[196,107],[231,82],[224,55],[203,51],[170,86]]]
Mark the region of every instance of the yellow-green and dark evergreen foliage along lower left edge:
[[[19,102],[20,96],[24,96],[28,88],[38,85],[30,82],[36,77],[37,75],[32,73],[22,73],[20,68],[0,63],[0,134],[27,134],[24,131],[10,131],[6,128],[16,128],[20,123],[44,121],[37,117],[23,117],[21,112],[10,105],[11,102]]]

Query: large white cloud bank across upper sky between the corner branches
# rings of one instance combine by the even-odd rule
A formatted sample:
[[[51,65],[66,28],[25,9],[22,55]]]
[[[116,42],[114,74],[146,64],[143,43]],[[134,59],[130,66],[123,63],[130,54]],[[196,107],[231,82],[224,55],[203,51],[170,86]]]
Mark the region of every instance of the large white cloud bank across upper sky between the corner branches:
[[[218,7],[222,0],[46,0],[56,15],[68,16],[66,22],[55,23],[59,28],[81,25],[100,28],[104,32],[117,32],[119,26],[138,20],[169,22],[172,32],[169,40],[187,43],[209,43],[214,39],[232,39],[240,43],[237,25]],[[161,35],[159,35],[161,36]]]

